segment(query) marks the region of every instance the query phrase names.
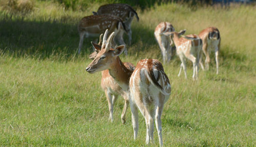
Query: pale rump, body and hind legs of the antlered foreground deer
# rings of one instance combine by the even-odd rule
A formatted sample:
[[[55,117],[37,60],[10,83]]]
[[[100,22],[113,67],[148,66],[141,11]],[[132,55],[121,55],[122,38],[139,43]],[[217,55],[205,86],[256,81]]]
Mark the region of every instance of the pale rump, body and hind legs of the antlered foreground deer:
[[[134,139],[138,134],[138,109],[146,122],[146,143],[153,141],[154,120],[158,132],[159,144],[163,145],[161,115],[164,103],[168,100],[171,87],[162,64],[155,59],[144,59],[138,62],[130,78]],[[137,105],[137,107],[136,107]]]

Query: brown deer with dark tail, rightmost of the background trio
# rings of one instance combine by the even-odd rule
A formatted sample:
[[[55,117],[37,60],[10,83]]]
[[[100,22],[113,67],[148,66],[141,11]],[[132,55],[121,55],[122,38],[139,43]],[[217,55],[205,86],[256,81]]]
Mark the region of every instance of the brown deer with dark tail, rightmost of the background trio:
[[[219,50],[221,45],[221,37],[218,28],[216,27],[207,27],[199,33],[199,37],[203,41],[202,50],[205,55],[205,69],[209,70],[209,62],[210,57],[209,53],[211,50],[215,50],[215,60],[216,60],[216,68],[217,74],[219,73]]]

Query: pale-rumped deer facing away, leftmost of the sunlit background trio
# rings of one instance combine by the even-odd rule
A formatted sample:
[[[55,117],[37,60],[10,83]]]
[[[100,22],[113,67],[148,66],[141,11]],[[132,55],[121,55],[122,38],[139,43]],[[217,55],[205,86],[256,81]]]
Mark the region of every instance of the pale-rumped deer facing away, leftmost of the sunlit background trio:
[[[174,32],[175,29],[172,24],[169,22],[161,22],[155,28],[155,38],[159,44],[163,55],[163,63],[169,62],[170,59],[175,55],[175,45],[168,36],[165,36],[163,33]]]

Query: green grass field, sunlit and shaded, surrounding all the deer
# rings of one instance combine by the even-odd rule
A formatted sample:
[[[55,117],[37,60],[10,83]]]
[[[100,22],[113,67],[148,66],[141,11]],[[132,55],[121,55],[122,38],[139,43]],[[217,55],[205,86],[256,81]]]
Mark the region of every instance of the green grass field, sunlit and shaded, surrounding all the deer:
[[[96,38],[85,39],[82,53],[76,53],[77,23],[100,4],[72,11],[51,1],[33,2],[27,14],[0,6],[0,146],[146,146],[141,114],[137,140],[130,108],[126,124],[121,123],[121,97],[114,122],[108,121],[101,74],[86,72]],[[164,4],[136,10],[140,21],[133,21],[132,45],[128,56],[121,55],[123,62],[162,61],[153,34],[161,21],[186,34],[216,26],[222,38],[219,75],[214,60],[209,71],[199,71],[198,81],[192,79],[190,62],[188,79],[177,76],[177,56],[164,65],[172,85],[161,118],[164,146],[256,146],[255,6]],[[159,145],[156,128],[154,139],[149,146]]]

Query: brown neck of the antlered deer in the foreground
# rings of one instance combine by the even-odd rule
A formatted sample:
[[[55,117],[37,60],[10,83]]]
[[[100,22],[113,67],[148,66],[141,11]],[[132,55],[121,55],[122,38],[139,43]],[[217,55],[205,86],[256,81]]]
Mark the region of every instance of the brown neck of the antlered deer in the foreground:
[[[127,69],[121,62],[119,57],[116,57],[115,62],[109,69],[110,75],[116,80],[116,82],[122,87],[124,91],[129,90],[129,80],[133,71]]]

